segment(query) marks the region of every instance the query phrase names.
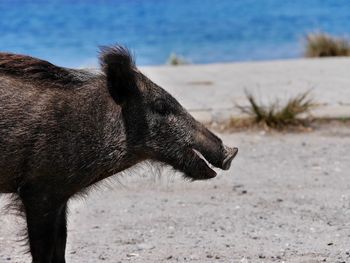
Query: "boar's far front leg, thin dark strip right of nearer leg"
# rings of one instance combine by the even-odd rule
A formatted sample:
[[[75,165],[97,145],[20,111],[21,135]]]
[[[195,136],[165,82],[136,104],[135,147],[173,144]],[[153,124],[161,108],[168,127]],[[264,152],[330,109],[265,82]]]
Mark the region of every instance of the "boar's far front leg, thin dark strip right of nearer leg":
[[[65,251],[67,242],[67,204],[64,204],[56,219],[56,242],[52,263],[65,263]]]

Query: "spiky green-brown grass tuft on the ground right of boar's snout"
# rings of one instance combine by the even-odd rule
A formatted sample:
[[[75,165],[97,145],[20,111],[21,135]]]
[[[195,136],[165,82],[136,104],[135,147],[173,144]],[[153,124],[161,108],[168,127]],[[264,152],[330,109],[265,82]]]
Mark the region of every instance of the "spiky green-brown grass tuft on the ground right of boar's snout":
[[[284,129],[291,126],[305,126],[306,119],[300,118],[300,115],[308,113],[316,106],[309,95],[309,92],[304,92],[289,99],[285,105],[281,105],[277,100],[266,106],[258,103],[251,93],[246,92],[249,106],[237,107],[248,114],[253,123],[262,124],[266,128]]]

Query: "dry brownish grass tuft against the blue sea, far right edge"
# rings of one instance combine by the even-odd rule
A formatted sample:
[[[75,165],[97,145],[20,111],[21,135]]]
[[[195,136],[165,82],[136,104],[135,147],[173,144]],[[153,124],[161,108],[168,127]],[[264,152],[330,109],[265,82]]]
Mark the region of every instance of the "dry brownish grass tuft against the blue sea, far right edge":
[[[326,33],[312,33],[306,36],[306,57],[350,56],[350,42]]]

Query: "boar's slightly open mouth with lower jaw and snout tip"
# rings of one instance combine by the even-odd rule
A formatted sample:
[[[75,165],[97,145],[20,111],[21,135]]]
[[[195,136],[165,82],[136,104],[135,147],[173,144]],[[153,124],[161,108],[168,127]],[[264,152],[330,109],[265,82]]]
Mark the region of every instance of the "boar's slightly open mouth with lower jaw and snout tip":
[[[185,177],[192,180],[206,180],[214,178],[217,173],[213,170],[213,168],[216,167],[222,170],[228,170],[237,153],[237,148],[225,148],[223,161],[215,162],[216,164],[213,165],[198,150],[189,148],[184,154],[185,160],[182,163],[180,170],[184,172]]]

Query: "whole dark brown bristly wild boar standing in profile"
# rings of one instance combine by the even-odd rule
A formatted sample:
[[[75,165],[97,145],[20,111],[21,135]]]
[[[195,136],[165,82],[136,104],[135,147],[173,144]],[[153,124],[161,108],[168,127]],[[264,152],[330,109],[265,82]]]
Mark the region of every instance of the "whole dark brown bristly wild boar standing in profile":
[[[236,148],[144,76],[123,47],[103,47],[101,73],[0,53],[0,193],[25,215],[34,263],[65,263],[67,202],[142,161],[185,178],[214,177],[193,150],[228,169]]]

